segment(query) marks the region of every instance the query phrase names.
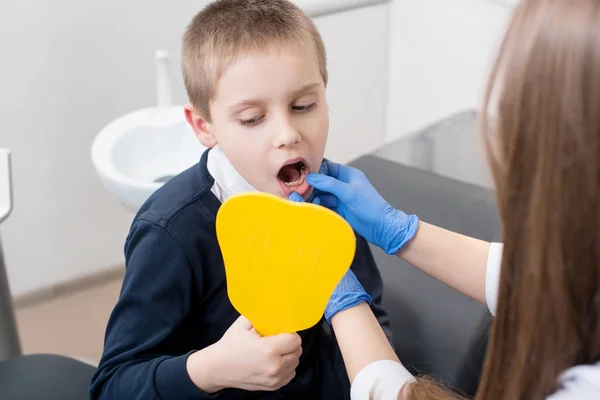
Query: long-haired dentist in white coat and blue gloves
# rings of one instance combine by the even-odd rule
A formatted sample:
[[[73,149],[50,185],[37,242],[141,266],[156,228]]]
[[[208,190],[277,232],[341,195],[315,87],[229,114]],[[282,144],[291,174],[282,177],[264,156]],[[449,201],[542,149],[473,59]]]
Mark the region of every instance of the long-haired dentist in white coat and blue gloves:
[[[523,0],[515,8],[482,112],[503,245],[393,208],[356,169],[325,162],[307,178],[315,203],[495,314],[476,399],[600,399],[598,27],[598,0]],[[456,399],[408,373],[368,302],[350,272],[325,313],[352,398]]]

